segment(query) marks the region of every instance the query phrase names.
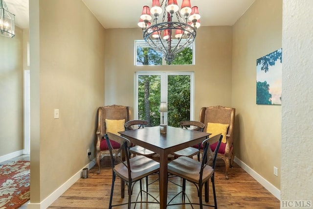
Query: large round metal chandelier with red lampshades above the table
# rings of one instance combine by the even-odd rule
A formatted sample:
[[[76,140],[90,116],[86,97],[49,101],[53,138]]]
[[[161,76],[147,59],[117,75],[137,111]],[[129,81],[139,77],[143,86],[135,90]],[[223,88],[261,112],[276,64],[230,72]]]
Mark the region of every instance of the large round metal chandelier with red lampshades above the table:
[[[177,0],[162,0],[161,4],[159,0],[153,0],[151,8],[143,6],[138,22],[145,42],[161,52],[168,64],[173,62],[176,54],[192,45],[196,29],[200,27],[197,6],[191,7],[190,0],[182,0],[180,8],[179,11]]]

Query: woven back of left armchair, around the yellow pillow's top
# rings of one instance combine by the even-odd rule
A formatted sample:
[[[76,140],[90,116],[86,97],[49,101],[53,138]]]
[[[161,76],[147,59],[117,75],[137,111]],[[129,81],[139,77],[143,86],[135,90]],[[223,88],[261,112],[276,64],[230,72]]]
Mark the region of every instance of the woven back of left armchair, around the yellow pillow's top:
[[[101,136],[106,133],[106,119],[122,120],[125,122],[131,119],[131,111],[129,107],[121,105],[110,105],[98,108],[98,131]]]

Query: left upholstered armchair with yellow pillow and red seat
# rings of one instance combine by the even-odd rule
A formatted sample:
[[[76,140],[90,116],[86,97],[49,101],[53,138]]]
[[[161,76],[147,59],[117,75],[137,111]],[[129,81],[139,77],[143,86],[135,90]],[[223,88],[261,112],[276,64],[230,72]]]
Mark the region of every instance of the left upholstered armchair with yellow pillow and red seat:
[[[131,118],[129,107],[121,105],[110,105],[99,107],[98,109],[98,129],[96,132],[96,163],[98,165],[98,174],[100,173],[100,161],[102,155],[110,155],[109,147],[105,139],[105,134],[111,132],[118,134],[119,131],[125,131],[124,124]],[[112,141],[113,149],[120,147],[119,143]]]

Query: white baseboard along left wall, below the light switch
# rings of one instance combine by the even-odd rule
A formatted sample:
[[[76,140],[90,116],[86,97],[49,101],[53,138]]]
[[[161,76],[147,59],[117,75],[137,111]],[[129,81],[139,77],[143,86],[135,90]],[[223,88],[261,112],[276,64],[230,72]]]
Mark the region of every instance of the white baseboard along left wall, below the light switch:
[[[85,167],[88,167],[88,170],[95,165],[95,159],[90,161]],[[63,185],[57,188],[52,192],[48,197],[46,197],[41,203],[31,203],[27,204],[27,209],[46,209],[48,208],[55,200],[57,200],[70,186],[72,186],[77,180],[82,177],[83,168],[80,169],[76,174],[67,180]],[[30,200],[31,201],[31,200]]]

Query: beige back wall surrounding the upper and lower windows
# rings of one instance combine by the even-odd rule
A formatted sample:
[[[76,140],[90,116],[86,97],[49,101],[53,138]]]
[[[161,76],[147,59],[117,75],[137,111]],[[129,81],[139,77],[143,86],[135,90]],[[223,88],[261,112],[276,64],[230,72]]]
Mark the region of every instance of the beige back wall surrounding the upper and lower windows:
[[[199,118],[201,107],[231,105],[231,26],[200,27],[197,30],[194,66],[134,66],[136,39],[142,39],[139,27],[106,29],[106,105],[126,105],[134,111],[134,72],[156,70],[195,72],[195,119]]]

